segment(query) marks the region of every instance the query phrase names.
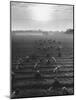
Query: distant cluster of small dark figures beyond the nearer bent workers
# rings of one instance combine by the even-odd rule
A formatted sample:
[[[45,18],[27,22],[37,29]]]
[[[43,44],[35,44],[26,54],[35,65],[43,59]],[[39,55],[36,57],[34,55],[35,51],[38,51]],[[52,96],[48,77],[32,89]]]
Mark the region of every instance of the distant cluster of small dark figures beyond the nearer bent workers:
[[[43,54],[50,52],[51,54],[56,54],[58,57],[61,57],[62,44],[56,40],[39,40],[35,42],[36,50]]]

